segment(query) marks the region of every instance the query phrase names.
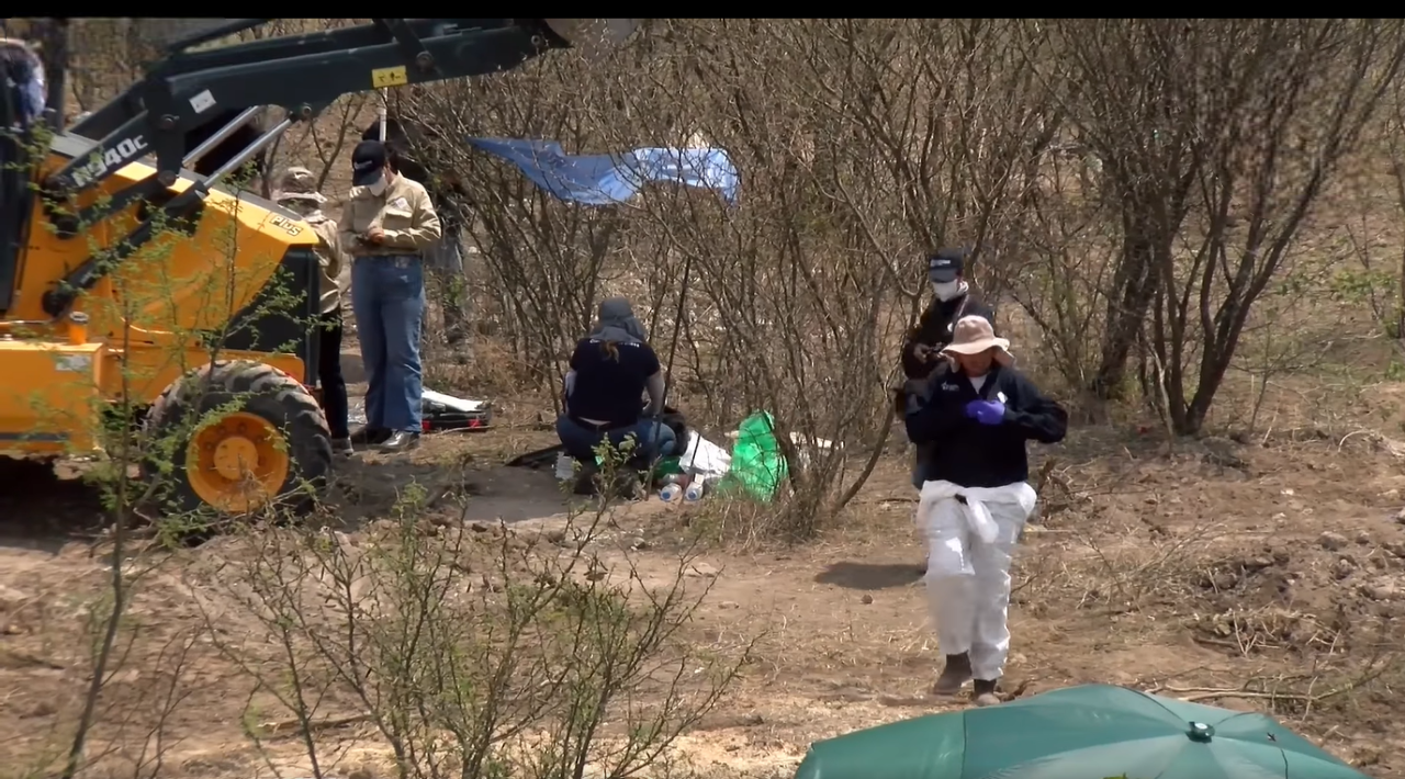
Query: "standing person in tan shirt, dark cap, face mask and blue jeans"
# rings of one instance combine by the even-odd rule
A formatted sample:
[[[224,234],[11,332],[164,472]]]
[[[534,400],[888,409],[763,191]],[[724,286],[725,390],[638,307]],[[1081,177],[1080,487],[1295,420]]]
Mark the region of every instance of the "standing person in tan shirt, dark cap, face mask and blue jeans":
[[[353,444],[403,452],[419,445],[420,324],[424,251],[443,229],[429,192],[399,174],[379,140],[351,152],[351,192],[341,211],[341,246],[351,260],[351,314],[365,364],[365,425]]]

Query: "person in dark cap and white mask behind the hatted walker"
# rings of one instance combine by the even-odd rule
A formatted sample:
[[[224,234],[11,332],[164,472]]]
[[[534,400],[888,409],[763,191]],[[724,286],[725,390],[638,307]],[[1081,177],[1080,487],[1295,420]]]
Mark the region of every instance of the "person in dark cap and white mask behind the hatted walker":
[[[960,248],[943,248],[927,258],[927,278],[932,282],[933,298],[917,320],[917,327],[902,344],[902,373],[906,380],[898,403],[899,413],[906,413],[909,401],[926,397],[927,378],[940,362],[937,355],[951,342],[957,320],[964,316],[979,316],[985,317],[992,328],[995,327],[995,310],[971,291],[964,278],[965,261],[967,253]],[[912,463],[912,486],[919,490],[926,481],[930,451],[930,444],[917,444]]]

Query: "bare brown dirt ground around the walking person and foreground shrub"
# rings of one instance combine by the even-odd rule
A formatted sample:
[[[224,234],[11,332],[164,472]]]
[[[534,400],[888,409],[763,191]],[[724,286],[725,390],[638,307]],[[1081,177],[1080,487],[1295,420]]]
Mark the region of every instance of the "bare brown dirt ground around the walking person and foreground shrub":
[[[552,442],[534,417],[528,406],[509,407],[490,432],[430,437],[396,460],[353,460],[337,495],[344,532],[358,538],[410,481],[431,500],[471,494],[464,522],[502,518],[523,532],[562,522],[566,505],[549,473],[502,465]],[[1368,431],[1172,451],[1149,435],[1075,430],[1045,452],[1057,458],[1055,476],[1019,553],[1005,691],[1113,682],[1273,712],[1374,776],[1405,776],[1395,713],[1405,670],[1395,654],[1401,630],[1391,627],[1405,618],[1402,453]],[[93,553],[100,507],[91,490],[27,466],[10,470],[0,476],[0,755],[14,758],[32,755],[87,685],[77,604],[101,591],[108,566]],[[695,769],[787,776],[815,740],[964,705],[926,696],[940,658],[913,508],[894,459],[818,543],[704,553],[698,577],[712,590],[688,630],[701,643],[759,644],[732,693],[684,737]],[[634,539],[641,575],[663,577],[683,529],[708,517],[705,501],[651,500],[620,510],[611,533]],[[176,553],[132,612],[160,632],[192,625],[197,599],[222,594],[192,591],[178,571],[225,549],[216,540]],[[604,549],[607,564],[622,564],[618,549]],[[167,665],[133,658],[110,685],[174,674]],[[160,776],[271,776],[240,734],[243,698],[222,686],[230,671],[192,672],[200,684],[166,721]],[[110,688],[108,698],[118,696]],[[384,775],[386,758],[364,735],[355,727],[323,734],[348,745],[333,773]],[[295,738],[274,745],[285,776],[308,775]]]

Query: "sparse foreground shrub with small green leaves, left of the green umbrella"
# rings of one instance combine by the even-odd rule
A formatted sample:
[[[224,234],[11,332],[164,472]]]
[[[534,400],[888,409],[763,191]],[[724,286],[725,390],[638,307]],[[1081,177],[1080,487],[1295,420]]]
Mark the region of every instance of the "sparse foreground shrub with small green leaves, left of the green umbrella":
[[[364,540],[242,536],[202,578],[263,626],[230,634],[207,612],[253,682],[247,734],[295,734],[318,778],[336,758],[319,730],[347,721],[403,778],[622,778],[667,759],[749,647],[684,641],[708,590],[691,557],[652,577],[606,550],[604,526],[604,507],[547,532],[441,521],[412,484]]]

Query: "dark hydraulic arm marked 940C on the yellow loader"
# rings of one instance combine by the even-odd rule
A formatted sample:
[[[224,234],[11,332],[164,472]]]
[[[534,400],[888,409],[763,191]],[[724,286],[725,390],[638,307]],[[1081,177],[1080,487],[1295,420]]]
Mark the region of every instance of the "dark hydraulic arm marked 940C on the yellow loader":
[[[377,18],[368,25],[188,51],[267,21],[230,20],[171,44],[167,56],[152,66],[142,81],[72,129],[74,135],[98,140],[41,182],[46,202],[63,202],[91,189],[140,157],[155,157],[156,173],[77,215],[46,209],[59,236],[76,237],[80,226],[101,222],[133,201],[159,208],[149,208],[142,223],[111,247],[103,262],[90,257],[49,291],[44,296],[48,314],[63,316],[110,262],[121,261],[150,240],[156,225],[190,218],[212,184],[237,170],[295,122],[316,116],[336,98],[364,90],[509,70],[554,48],[617,44],[638,20]],[[183,168],[268,105],[287,111],[281,122],[218,171],[170,195],[169,188]],[[214,112],[230,109],[244,111],[200,147],[185,152],[187,132],[207,124]]]

